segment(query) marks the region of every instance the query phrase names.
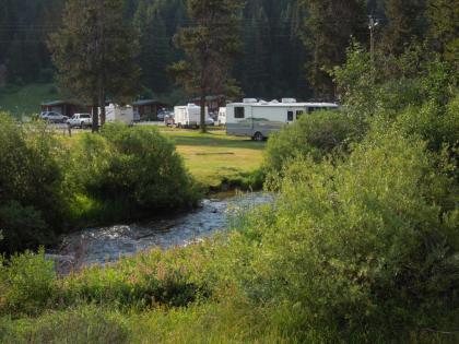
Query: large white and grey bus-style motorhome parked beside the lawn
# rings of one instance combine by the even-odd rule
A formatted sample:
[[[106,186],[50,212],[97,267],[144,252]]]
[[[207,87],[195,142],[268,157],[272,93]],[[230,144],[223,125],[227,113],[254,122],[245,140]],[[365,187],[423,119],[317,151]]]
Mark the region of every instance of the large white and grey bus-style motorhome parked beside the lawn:
[[[294,98],[282,102],[263,102],[252,98],[226,105],[226,132],[228,135],[250,137],[262,141],[283,126],[294,123],[302,116],[321,109],[338,109],[333,103],[296,103]]]

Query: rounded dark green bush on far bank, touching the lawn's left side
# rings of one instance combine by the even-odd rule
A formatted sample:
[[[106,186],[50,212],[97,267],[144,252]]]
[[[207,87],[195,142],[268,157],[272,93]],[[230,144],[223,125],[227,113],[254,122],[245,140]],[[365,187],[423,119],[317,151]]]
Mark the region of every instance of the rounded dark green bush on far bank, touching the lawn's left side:
[[[117,152],[103,186],[105,194],[129,192],[132,201],[144,209],[196,203],[193,180],[172,141],[156,130],[132,130],[122,124],[106,126],[102,135]]]

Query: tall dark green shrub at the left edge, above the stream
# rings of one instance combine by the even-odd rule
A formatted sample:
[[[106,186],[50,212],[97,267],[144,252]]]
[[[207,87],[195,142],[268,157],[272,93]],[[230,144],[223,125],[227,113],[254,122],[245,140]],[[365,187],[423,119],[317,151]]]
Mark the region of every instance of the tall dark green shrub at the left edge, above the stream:
[[[59,154],[58,142],[45,127],[20,126],[8,115],[0,114],[3,251],[11,253],[45,244],[40,239],[52,237],[54,232],[62,228],[66,200]],[[39,232],[35,238],[33,230]]]

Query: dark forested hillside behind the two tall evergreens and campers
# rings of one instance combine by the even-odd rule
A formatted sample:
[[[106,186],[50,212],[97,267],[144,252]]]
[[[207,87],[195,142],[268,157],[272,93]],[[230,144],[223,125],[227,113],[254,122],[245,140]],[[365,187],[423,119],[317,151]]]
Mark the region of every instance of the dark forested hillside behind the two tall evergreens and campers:
[[[63,3],[0,0],[0,85],[52,81],[46,40],[60,26]],[[429,37],[437,50],[454,55],[457,10],[451,3],[248,0],[240,28],[244,51],[234,76],[246,96],[333,98],[327,70],[343,63],[351,37],[369,46],[368,14],[379,20],[378,49],[399,55],[411,41]],[[173,37],[179,27],[192,25],[186,0],[126,0],[125,11],[138,29],[144,92],[172,93],[177,86],[167,67],[183,57]]]

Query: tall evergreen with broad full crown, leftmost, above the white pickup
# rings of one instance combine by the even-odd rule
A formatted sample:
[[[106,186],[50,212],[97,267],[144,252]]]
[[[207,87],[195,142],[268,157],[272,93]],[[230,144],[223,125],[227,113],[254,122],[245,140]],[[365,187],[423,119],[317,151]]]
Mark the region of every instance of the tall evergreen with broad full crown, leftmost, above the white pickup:
[[[106,96],[123,102],[137,93],[137,40],[123,21],[123,0],[69,0],[62,28],[49,39],[62,86],[101,108],[105,123]],[[93,130],[98,116],[93,116]]]

